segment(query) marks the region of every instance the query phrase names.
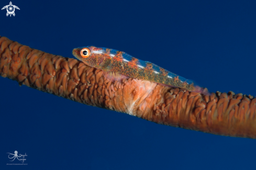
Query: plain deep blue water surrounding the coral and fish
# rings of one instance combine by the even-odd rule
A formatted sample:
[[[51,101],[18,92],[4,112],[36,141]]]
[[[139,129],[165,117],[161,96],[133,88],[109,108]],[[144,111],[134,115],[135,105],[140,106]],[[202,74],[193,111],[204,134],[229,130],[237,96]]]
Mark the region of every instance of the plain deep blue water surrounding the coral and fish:
[[[0,10],[0,35],[31,48],[69,58],[81,46],[117,49],[210,92],[256,95],[255,1],[12,3],[20,10]],[[163,126],[2,77],[0,96],[0,169],[255,169],[256,140]],[[20,163],[9,161],[14,151],[28,165],[6,165]]]

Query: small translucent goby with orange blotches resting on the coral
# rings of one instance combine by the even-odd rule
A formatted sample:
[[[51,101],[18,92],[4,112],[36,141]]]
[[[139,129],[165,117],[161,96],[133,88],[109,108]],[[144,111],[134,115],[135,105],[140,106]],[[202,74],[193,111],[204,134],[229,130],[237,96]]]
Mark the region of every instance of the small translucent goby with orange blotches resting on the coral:
[[[151,62],[134,58],[122,51],[88,46],[75,48],[72,53],[75,58],[86,65],[103,70],[105,76],[112,81],[133,77],[209,95],[206,89],[195,85],[193,81],[169,72]]]

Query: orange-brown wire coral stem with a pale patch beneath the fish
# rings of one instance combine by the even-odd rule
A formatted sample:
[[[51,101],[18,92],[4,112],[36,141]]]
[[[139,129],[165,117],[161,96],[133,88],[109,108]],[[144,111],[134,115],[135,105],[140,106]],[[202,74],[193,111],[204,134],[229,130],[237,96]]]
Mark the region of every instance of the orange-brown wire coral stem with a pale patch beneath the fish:
[[[113,83],[101,70],[78,60],[31,49],[6,37],[0,38],[0,47],[1,76],[20,85],[168,126],[256,139],[256,99],[250,95],[206,96],[135,78]]]

